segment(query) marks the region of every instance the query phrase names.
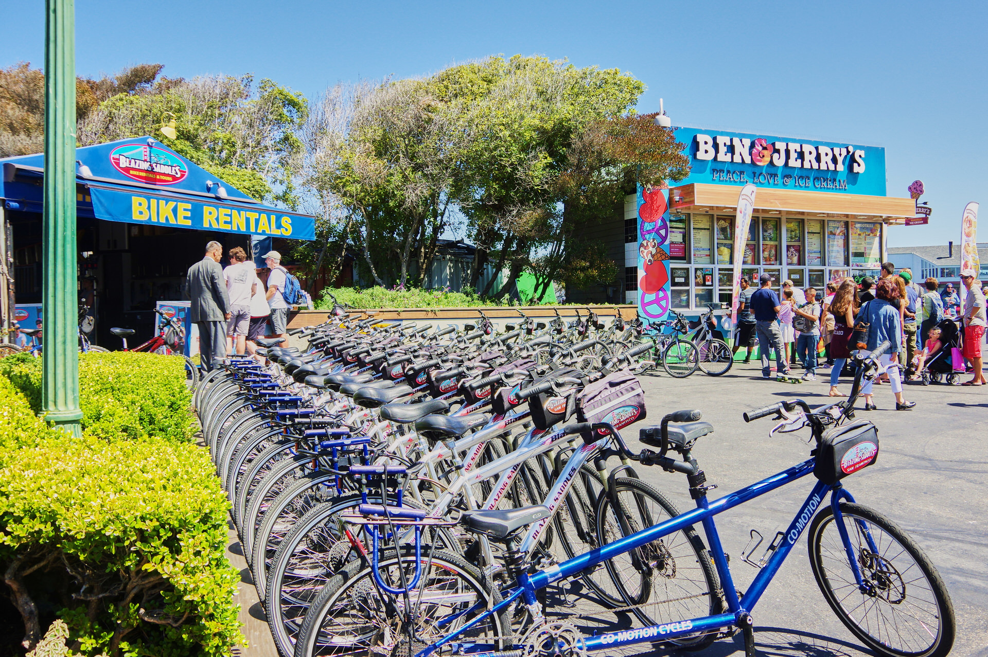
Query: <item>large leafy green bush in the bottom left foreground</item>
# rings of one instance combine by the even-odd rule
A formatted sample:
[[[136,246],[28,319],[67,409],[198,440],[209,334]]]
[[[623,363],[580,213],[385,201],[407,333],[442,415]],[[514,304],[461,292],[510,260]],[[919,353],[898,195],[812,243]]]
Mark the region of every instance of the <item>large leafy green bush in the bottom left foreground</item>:
[[[0,558],[17,602],[56,610],[83,654],[230,654],[238,573],[205,452],[44,430],[5,460]]]

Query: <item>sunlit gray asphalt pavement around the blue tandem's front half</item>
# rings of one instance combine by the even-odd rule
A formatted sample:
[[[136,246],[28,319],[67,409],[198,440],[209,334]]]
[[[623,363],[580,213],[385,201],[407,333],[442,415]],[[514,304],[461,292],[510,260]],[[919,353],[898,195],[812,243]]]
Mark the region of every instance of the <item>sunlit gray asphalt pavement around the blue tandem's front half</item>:
[[[827,403],[831,401],[828,372],[819,370],[818,380],[798,384],[762,379],[755,362],[735,363],[720,377],[700,371],[684,379],[671,378],[661,370],[646,374],[642,381],[648,418],[623,433],[625,438],[636,439],[637,428],[658,424],[665,413],[700,409],[714,433],[700,438],[693,453],[708,483],[718,486],[709,493],[712,500],[808,457],[811,447],[805,443],[806,432],[770,438],[771,419],[745,424],[741,414],[795,397],[811,405]],[[840,387],[847,392],[850,379],[842,379]],[[940,571],[957,622],[950,654],[988,657],[988,500],[984,496],[988,387],[910,384],[905,388],[906,399],[917,402],[910,411],[894,410],[887,384],[876,386],[874,394],[878,410],[859,411],[858,417],[870,419],[878,428],[878,460],[844,483],[859,503],[911,534]],[[658,468],[639,468],[639,474],[675,500],[681,511],[694,506],[684,475]],[[740,558],[750,531],[758,530],[768,542],[784,530],[814,481],[808,476],[716,517],[739,590],[744,591],[758,573]],[[824,601],[810,570],[805,536],[799,538],[752,616],[760,655],[871,654]],[[721,657],[744,651],[738,636],[691,654]]]

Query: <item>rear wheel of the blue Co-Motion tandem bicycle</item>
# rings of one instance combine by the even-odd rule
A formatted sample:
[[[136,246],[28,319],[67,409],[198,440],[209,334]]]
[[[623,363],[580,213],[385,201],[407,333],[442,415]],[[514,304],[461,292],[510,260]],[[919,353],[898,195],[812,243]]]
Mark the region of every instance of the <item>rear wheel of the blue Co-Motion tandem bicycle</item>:
[[[407,654],[415,654],[501,602],[490,580],[461,557],[439,550],[430,555],[424,549],[419,559],[422,576],[409,593],[418,641]],[[400,586],[399,568],[409,581],[415,570],[415,553],[407,546],[400,560],[392,549],[383,551],[378,562],[378,572],[391,586]],[[294,655],[396,654],[395,645],[408,636],[403,627],[405,611],[403,596],[384,594],[375,585],[366,560],[354,561],[334,575],[313,601],[302,622]],[[450,622],[440,623],[443,619]],[[476,623],[454,644],[466,642],[471,652],[491,652],[510,643],[510,635],[502,612]],[[447,646],[433,654],[448,655],[452,650]]]

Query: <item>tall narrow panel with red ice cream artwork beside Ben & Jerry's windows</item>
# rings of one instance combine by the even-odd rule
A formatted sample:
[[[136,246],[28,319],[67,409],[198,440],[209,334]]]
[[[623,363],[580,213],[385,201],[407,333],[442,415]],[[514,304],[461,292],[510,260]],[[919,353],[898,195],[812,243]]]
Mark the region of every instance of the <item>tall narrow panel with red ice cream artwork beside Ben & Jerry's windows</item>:
[[[638,316],[659,322],[669,313],[668,190],[638,186]]]

